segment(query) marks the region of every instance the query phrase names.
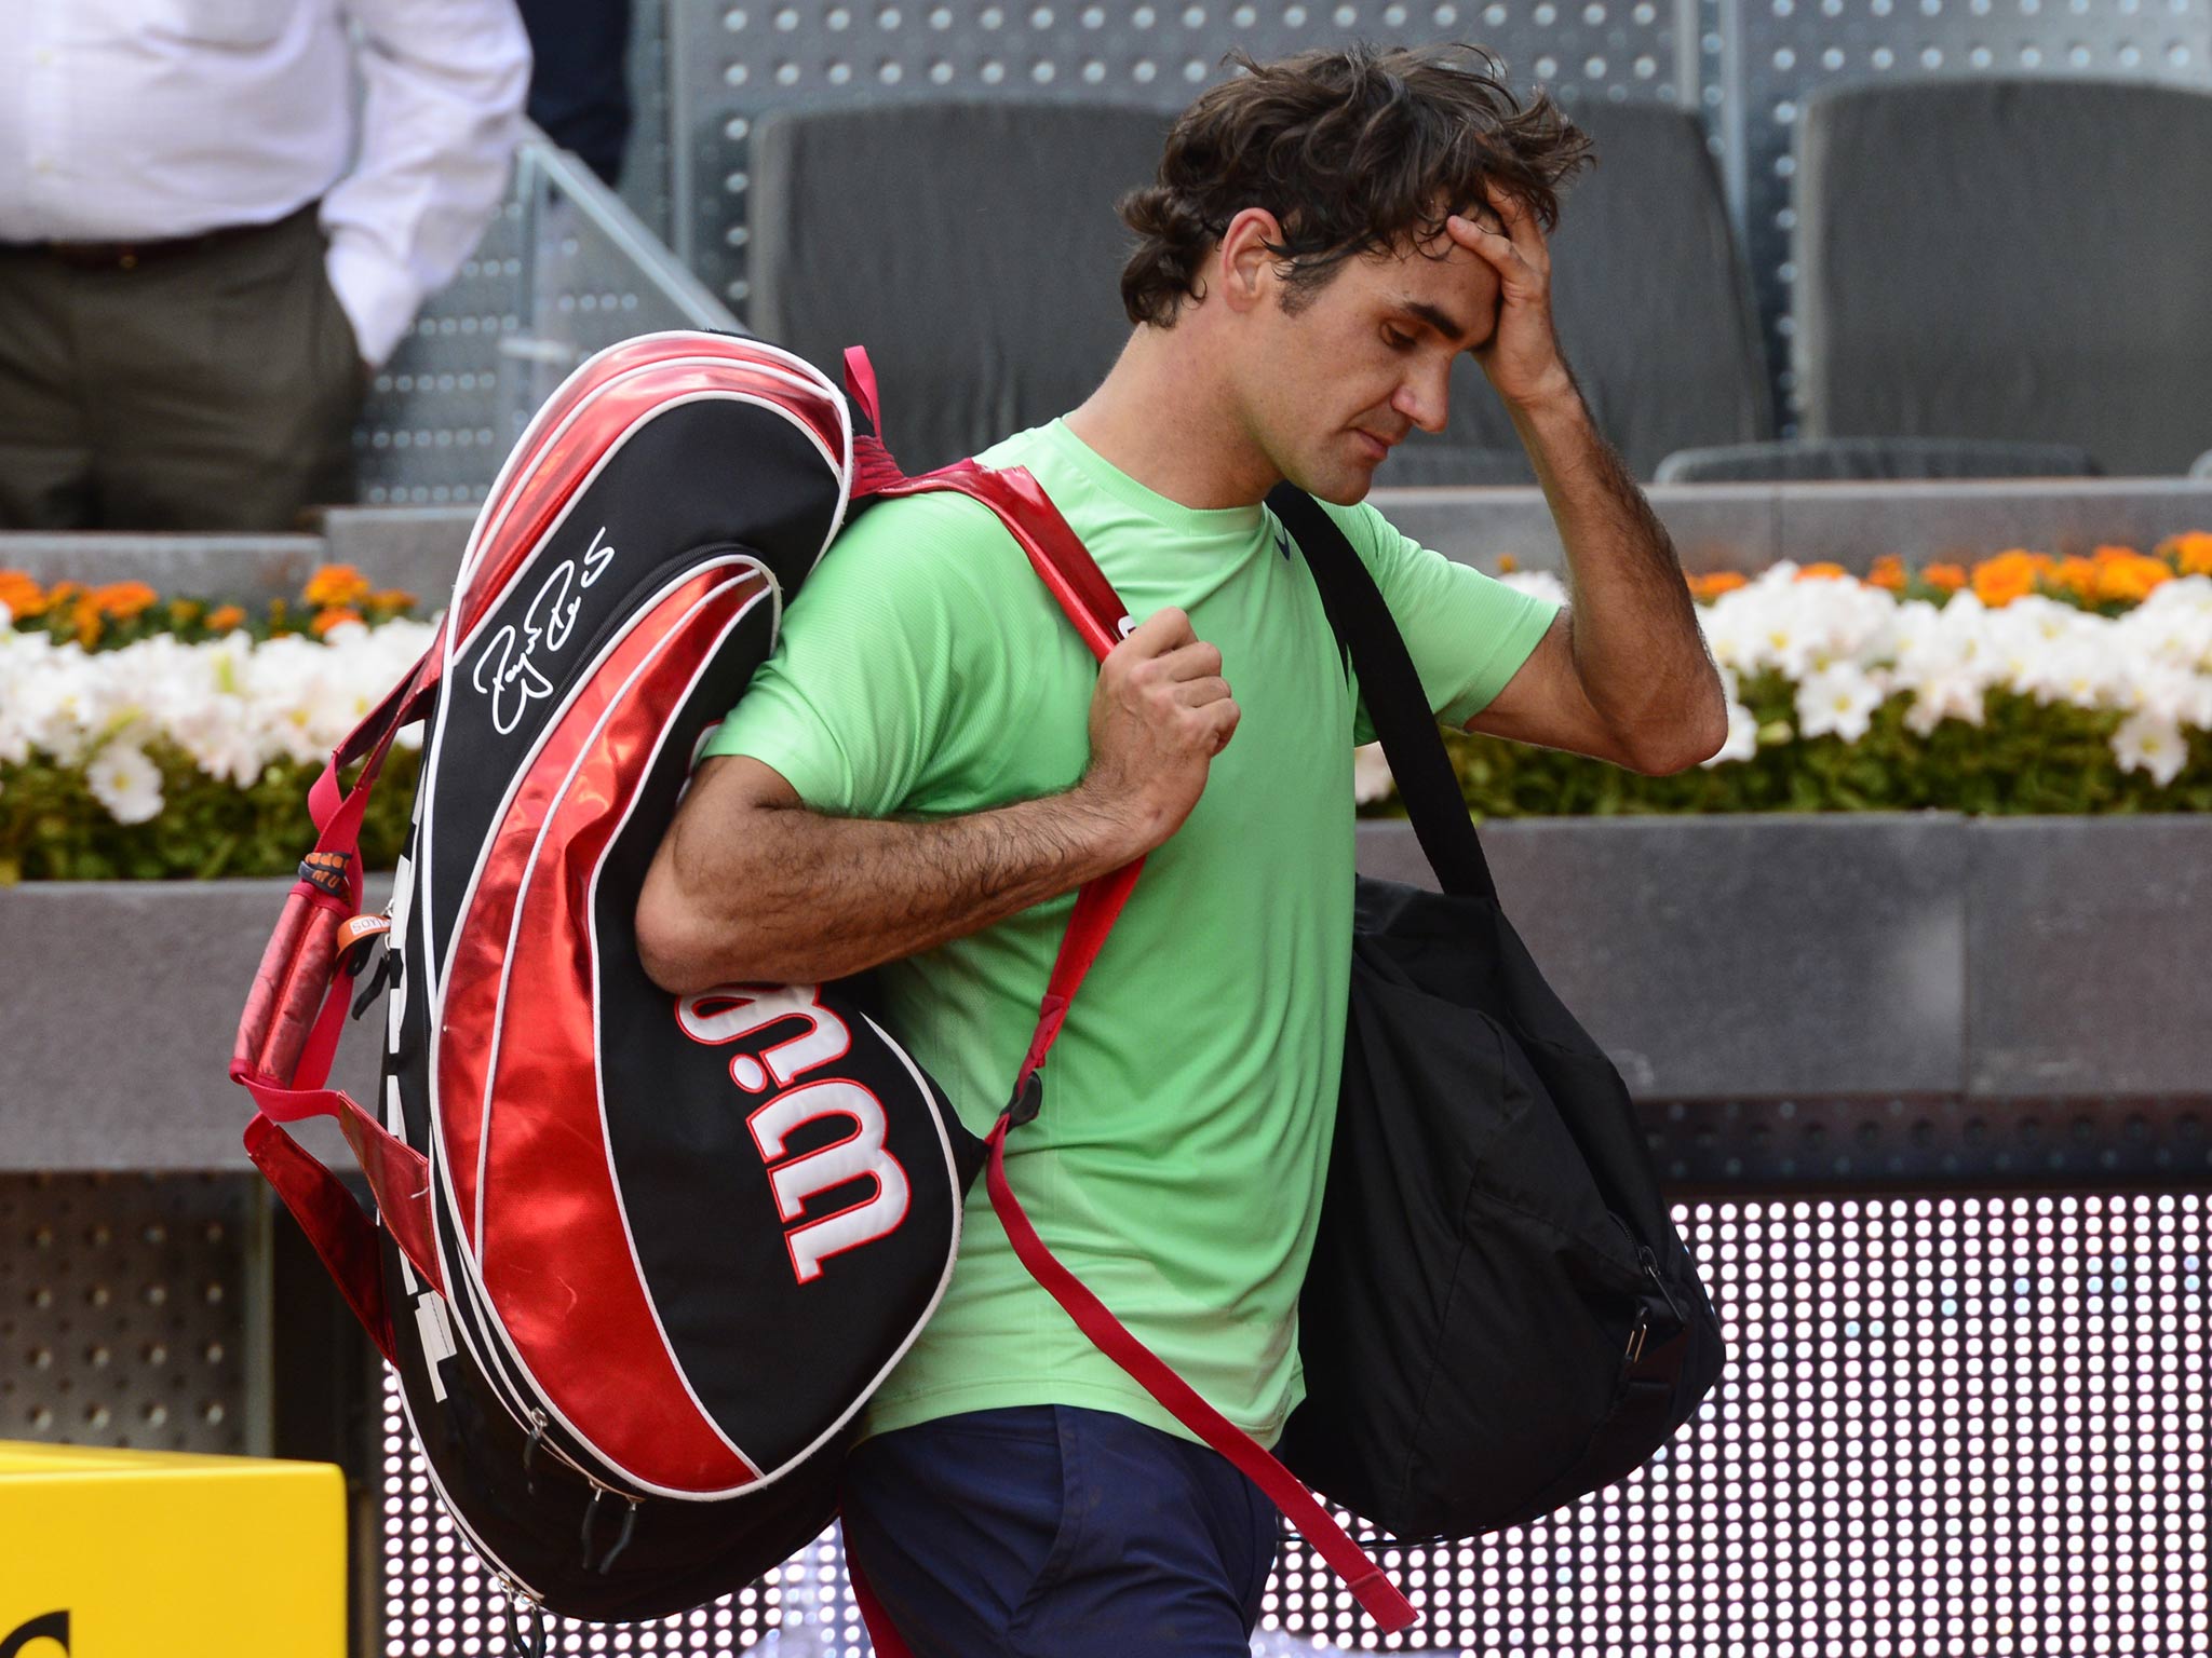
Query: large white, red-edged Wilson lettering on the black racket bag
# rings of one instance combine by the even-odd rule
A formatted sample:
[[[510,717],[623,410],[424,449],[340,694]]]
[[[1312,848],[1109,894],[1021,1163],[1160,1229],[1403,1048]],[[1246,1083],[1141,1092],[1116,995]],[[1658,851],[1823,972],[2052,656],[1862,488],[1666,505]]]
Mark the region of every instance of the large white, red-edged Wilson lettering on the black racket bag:
[[[847,1249],[889,1238],[907,1218],[911,1192],[907,1172],[885,1147],[889,1123],[867,1088],[845,1079],[801,1081],[810,1070],[852,1052],[852,1030],[825,1008],[812,984],[723,986],[677,1001],[684,1035],[708,1048],[743,1041],[772,1026],[799,1021],[803,1028],[759,1052],[730,1059],[730,1081],[748,1094],[774,1092],[745,1119],[752,1143],[768,1167],[768,1189],[776,1214],[790,1225],[783,1242],[792,1253],[792,1276],[812,1284],[823,1262]],[[812,1123],[834,1123],[843,1134],[807,1152],[790,1154],[792,1138]],[[818,1138],[818,1136],[810,1136]],[[807,1203],[836,1187],[867,1180],[874,1189],[860,1203],[807,1220]]]

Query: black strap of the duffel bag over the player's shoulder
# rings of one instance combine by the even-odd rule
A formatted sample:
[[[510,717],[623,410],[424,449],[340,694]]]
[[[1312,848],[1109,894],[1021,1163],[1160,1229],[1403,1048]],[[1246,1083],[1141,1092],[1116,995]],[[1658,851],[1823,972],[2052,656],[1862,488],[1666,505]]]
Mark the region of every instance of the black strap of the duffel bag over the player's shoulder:
[[[1444,754],[1429,696],[1374,577],[1367,575],[1367,566],[1336,520],[1303,489],[1276,484],[1267,493],[1267,506],[1298,539],[1305,568],[1314,573],[1321,604],[1329,612],[1329,626],[1352,650],[1367,718],[1383,738],[1383,754],[1389,758],[1413,833],[1438,882],[1447,893],[1498,898],[1489,858],[1482,856],[1482,840],[1467,816],[1467,798],[1460,794],[1451,756]]]

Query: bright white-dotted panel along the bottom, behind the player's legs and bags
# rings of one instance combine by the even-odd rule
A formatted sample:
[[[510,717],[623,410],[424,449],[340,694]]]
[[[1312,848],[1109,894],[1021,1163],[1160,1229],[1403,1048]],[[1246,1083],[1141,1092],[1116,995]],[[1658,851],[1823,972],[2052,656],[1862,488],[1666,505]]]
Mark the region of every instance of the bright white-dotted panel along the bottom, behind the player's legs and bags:
[[[1303,1545],[1272,1651],[1566,1658],[2088,1658],[2212,1651],[2201,1194],[1754,1198],[1677,1207],[1732,1346],[1644,1472],[1460,1547],[1387,1550],[1425,1623],[1376,1636]],[[394,1651],[484,1654],[504,1616],[387,1397]],[[557,1654],[858,1654],[834,1536],[666,1625]],[[504,1627],[504,1625],[500,1625]],[[1265,1643],[1263,1643],[1265,1645]]]

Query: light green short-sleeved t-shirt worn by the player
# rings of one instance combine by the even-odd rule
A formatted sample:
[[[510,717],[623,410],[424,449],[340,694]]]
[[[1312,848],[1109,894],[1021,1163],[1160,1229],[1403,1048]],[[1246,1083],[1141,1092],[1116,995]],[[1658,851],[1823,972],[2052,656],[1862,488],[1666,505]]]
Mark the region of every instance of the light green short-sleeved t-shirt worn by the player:
[[[1261,1444],[1303,1397],[1314,1242],[1352,953],[1354,699],[1321,597],[1261,506],[1155,495],[1062,422],[982,455],[1026,466],[1139,621],[1190,612],[1241,723],[1144,867],[1006,1167],[1046,1245]],[[1329,508],[1376,575],[1433,707],[1464,723],[1553,606]],[[1097,661],[989,508],[867,508],[792,601],[706,754],[750,754],[816,811],[953,816],[1073,787]],[[1037,1019],[1073,895],[883,968],[891,1032],[989,1132]],[[1031,1280],[969,1194],[945,1302],[867,1430],[1015,1404],[1117,1410],[1190,1437]]]

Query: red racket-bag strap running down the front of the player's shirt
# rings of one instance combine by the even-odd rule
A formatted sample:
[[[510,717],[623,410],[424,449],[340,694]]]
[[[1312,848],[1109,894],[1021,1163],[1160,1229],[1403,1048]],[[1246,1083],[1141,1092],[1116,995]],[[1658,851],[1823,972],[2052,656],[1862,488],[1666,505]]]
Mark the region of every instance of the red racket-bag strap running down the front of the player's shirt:
[[[1113,584],[1099,573],[1091,553],[1084,548],[1082,539],[1068,528],[1068,522],[1053,506],[1051,495],[1020,466],[1009,466],[995,471],[989,466],[978,466],[973,460],[962,460],[945,471],[927,473],[925,478],[907,478],[896,484],[880,486],[872,493],[878,495],[920,495],[927,491],[951,489],[962,495],[989,506],[998,513],[1000,522],[1013,535],[1013,539],[1029,555],[1031,566],[1051,588],[1060,608],[1075,623],[1075,630],[1091,646],[1093,654],[1106,657],[1124,634],[1124,623],[1128,612],[1121,608],[1121,599],[1115,595]],[[1396,1631],[1409,1627],[1416,1616],[1413,1607],[1398,1592],[1383,1567],[1378,1567],[1358,1543],[1329,1519],[1329,1512],[1314,1499],[1314,1494],[1292,1475],[1283,1463],[1279,1463],[1267,1448],[1261,1446],[1252,1435],[1232,1424],[1219,1410],[1214,1410],[1197,1388],[1192,1388],[1183,1377],[1175,1373],[1157,1353],[1152,1353],[1144,1342],[1139,1342],[1121,1320],[1108,1311],[1108,1307],[1084,1287],[1084,1282],[1071,1273],[1037,1236],[1029,1216],[1022,1211],[1022,1200],[1013,1196],[1013,1183],[1006,1178],[1006,1134],[1015,1125],[1029,1121],[1037,1110],[1037,1072],[1044,1066],[1044,1054],[1053,1046],[1053,1037],[1060,1035],[1060,1024],[1066,1017],[1068,1004],[1075,999],[1077,986],[1097,959],[1099,948],[1106,944],[1106,935],[1113,931],[1115,917],[1119,917],[1121,906],[1128,902],[1130,889],[1137,884],[1137,864],[1117,869],[1113,875],[1102,875],[1099,880],[1084,886],[1082,895],[1075,900],[1075,915],[1068,920],[1066,937],[1060,942],[1060,957],[1053,962],[1053,977],[1044,990],[1044,1006],[1037,1010],[1037,1035],[1029,1043],[1029,1057],[1022,1061],[1022,1074],[1015,1083],[1013,1105],[998,1119],[991,1130],[991,1165],[987,1172],[987,1185],[991,1189],[991,1207],[998,1211],[1000,1222],[1006,1227],[1006,1236],[1013,1240],[1013,1253],[1020,1256],[1022,1265],[1029,1269],[1031,1278],[1051,1291],[1053,1300],[1060,1302],[1062,1311],[1075,1320],[1077,1329],[1091,1337],[1091,1342],[1115,1364],[1128,1371],[1146,1393],[1159,1399],[1177,1421],[1190,1428],[1199,1439],[1228,1457],[1237,1468],[1256,1483],[1276,1508],[1298,1528],[1298,1534],[1336,1570],[1352,1594],[1365,1607],[1367,1616],[1374,1618],[1383,1629]],[[854,1572],[856,1594],[860,1592],[860,1576]],[[872,1607],[872,1596],[863,1601],[863,1609]],[[880,1607],[872,1607],[869,1629],[883,1623]],[[896,1631],[894,1631],[896,1638]]]

